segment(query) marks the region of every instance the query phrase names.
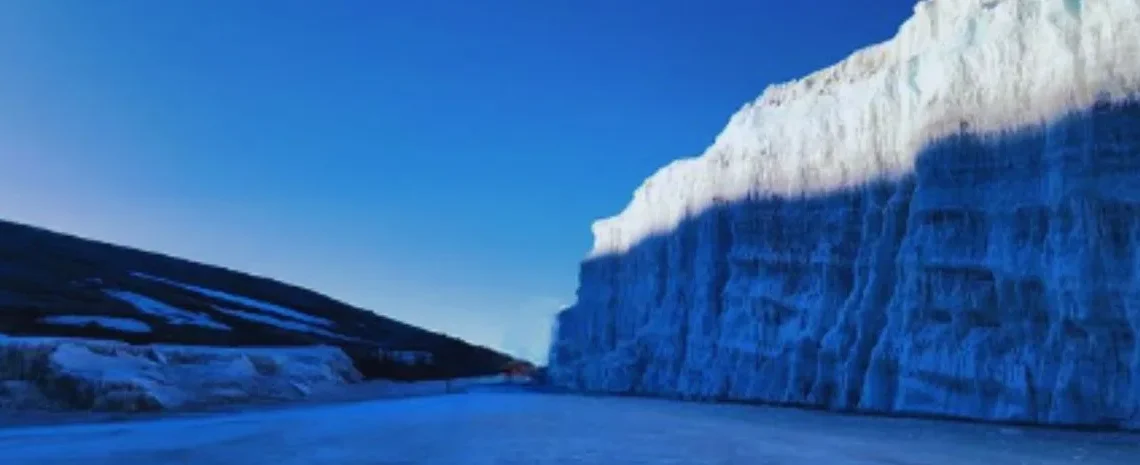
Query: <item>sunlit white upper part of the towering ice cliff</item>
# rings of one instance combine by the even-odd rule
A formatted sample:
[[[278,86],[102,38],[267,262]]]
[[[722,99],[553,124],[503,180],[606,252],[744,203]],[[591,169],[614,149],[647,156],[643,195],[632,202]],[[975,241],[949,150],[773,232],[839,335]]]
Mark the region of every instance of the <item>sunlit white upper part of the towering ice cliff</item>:
[[[714,199],[793,196],[911,172],[958,131],[1041,124],[1140,90],[1138,0],[923,0],[890,40],[744,105],[703,155],[670,163],[591,256],[626,252]]]

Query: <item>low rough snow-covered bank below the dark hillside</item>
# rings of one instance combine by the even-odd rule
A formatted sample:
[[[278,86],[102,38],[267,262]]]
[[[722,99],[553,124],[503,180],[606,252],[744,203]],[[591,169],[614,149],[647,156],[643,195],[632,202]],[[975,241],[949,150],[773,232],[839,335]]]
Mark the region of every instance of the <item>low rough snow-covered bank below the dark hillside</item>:
[[[186,410],[356,383],[340,349],[130,345],[0,336],[0,408]]]

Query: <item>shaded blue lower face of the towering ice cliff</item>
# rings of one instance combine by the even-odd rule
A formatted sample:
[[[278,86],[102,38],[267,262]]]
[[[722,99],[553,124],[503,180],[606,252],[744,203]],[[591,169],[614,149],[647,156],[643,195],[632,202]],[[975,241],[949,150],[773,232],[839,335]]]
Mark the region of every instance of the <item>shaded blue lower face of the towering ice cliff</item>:
[[[1140,103],[927,146],[907,179],[720,203],[581,266],[553,384],[1140,427]]]

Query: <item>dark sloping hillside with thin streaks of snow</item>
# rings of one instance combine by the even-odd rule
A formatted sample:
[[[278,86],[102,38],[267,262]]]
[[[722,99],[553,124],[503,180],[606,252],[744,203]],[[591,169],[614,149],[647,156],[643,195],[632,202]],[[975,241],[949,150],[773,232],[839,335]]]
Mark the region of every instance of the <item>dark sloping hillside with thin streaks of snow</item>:
[[[7,221],[0,221],[0,333],[137,344],[331,344],[369,377],[481,375],[510,360],[285,283]],[[385,360],[381,350],[430,352],[432,364]]]

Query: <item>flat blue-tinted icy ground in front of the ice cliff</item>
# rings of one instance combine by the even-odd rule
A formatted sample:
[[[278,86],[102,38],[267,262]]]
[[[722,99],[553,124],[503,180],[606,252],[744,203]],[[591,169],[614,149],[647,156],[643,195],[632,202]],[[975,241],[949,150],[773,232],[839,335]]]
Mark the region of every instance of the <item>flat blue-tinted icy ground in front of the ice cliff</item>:
[[[534,393],[0,430],[5,465],[1130,464],[1140,437]]]

